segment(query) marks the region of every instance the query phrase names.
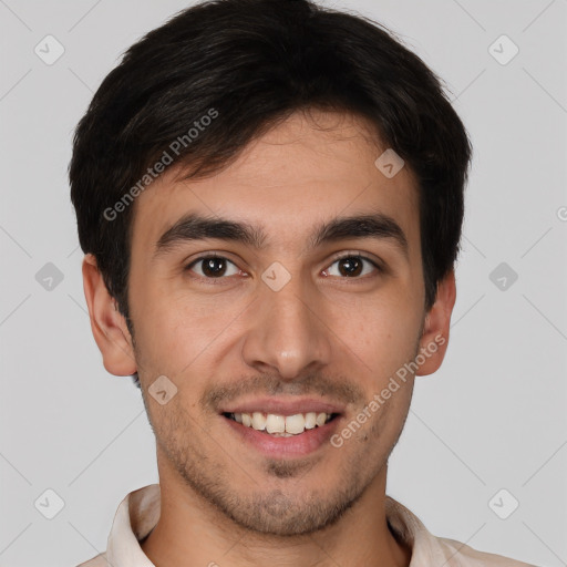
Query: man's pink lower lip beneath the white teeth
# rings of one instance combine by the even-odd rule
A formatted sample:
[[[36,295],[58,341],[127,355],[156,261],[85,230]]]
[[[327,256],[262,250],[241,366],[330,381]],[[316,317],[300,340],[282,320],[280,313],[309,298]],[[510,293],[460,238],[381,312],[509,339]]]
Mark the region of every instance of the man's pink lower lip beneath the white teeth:
[[[329,439],[337,430],[338,423],[341,419],[341,416],[338,415],[324,425],[313,427],[312,430],[306,430],[299,435],[292,435],[290,437],[275,437],[268,433],[256,431],[254,427],[243,425],[241,423],[226,417],[225,415],[221,415],[221,417],[228,423],[228,426],[231,427],[236,434],[240,435],[241,439],[245,440],[245,442],[252,445],[257,451],[266,456],[272,457],[303,456],[313,453],[329,442]]]

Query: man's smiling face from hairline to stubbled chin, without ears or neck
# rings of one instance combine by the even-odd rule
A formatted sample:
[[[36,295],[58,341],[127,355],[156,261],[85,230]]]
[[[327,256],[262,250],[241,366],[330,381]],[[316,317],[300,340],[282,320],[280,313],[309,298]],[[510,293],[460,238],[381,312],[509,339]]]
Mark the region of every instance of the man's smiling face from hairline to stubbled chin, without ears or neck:
[[[361,120],[317,125],[296,114],[207,179],[172,166],[135,202],[128,301],[161,477],[277,535],[334,523],[383,480],[413,375],[369,402],[425,346],[415,179],[377,168]]]

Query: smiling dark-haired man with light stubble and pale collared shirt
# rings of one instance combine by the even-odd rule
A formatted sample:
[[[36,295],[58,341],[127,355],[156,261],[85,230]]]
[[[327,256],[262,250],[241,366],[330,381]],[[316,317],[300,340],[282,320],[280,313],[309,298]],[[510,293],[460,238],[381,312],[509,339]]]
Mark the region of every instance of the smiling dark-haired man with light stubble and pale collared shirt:
[[[70,166],[91,324],[133,375],[159,484],[89,567],[526,565],[386,496],[442,363],[471,146],[386,30],[217,0],[133,45]]]

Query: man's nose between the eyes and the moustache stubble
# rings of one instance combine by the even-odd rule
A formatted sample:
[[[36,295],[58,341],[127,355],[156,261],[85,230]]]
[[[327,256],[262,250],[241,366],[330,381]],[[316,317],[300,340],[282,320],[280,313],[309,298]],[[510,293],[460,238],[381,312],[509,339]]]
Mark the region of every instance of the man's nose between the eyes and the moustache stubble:
[[[299,277],[279,291],[260,285],[243,347],[249,367],[292,380],[329,363],[331,331],[324,303],[307,287]]]

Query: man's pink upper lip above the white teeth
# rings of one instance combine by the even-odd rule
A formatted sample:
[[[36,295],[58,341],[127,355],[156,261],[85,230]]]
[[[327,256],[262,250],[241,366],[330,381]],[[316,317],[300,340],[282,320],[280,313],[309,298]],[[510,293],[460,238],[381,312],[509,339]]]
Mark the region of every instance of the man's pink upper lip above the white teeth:
[[[315,398],[285,399],[285,398],[256,398],[254,400],[236,402],[220,410],[220,413],[254,413],[264,412],[275,415],[296,415],[297,413],[342,413],[344,406],[333,402],[326,402]]]

